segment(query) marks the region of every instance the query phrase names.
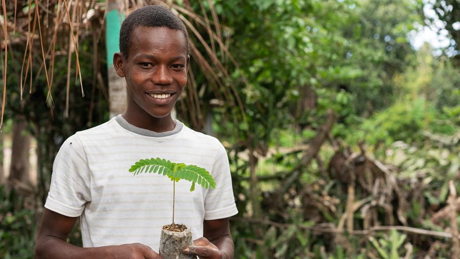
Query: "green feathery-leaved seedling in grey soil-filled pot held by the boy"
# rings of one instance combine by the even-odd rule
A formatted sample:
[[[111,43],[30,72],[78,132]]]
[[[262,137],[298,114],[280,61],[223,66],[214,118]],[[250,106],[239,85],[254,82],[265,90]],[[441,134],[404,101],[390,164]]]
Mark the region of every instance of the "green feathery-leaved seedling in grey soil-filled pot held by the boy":
[[[192,182],[190,191],[195,190],[195,185],[201,185],[203,188],[214,189],[216,183],[211,174],[202,167],[185,163],[174,163],[166,159],[150,158],[141,159],[135,162],[129,168],[133,176],[141,173],[156,173],[159,175],[167,176],[172,181],[172,224],[163,226],[161,239],[160,239],[160,254],[163,258],[193,258],[183,255],[180,251],[187,245],[193,245],[192,234],[190,229],[185,225],[176,225],[174,223],[174,203],[175,203],[175,183],[179,180],[187,180]],[[184,235],[174,234],[174,232],[187,233]],[[196,257],[195,257],[196,258]]]

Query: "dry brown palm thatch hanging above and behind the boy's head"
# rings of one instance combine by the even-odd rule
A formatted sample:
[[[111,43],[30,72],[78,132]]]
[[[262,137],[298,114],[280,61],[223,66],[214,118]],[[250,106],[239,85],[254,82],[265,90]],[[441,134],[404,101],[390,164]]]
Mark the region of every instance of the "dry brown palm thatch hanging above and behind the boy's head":
[[[192,9],[188,1],[182,4],[174,1],[146,1],[146,0],[110,0],[116,2],[120,11],[129,14],[134,9],[146,5],[163,5],[170,8],[182,19],[191,33],[191,56],[207,79],[216,99],[224,101],[232,107],[239,107],[241,114],[244,114],[243,103],[238,95],[234,80],[228,67],[239,69],[238,62],[228,51],[228,42],[231,40],[231,30],[219,23],[216,11],[210,0],[207,0],[208,9],[205,8],[202,0],[199,0],[201,12]],[[2,0],[3,17],[3,39],[1,49],[3,50],[3,102],[2,119],[6,103],[7,87],[7,56],[10,55],[8,46],[18,45],[24,49],[22,56],[22,67],[20,73],[20,95],[21,100],[25,89],[28,86],[29,93],[32,91],[32,62],[40,57],[41,66],[38,73],[44,73],[47,81],[47,104],[53,112],[53,83],[56,56],[67,56],[67,84],[66,84],[66,114],[69,110],[69,89],[71,81],[71,70],[75,69],[75,79],[79,79],[81,95],[84,97],[79,64],[79,42],[83,37],[91,36],[93,33],[93,46],[103,35],[105,24],[105,12],[108,1],[98,3],[96,0]],[[208,16],[211,13],[211,17]],[[225,33],[223,33],[225,32]],[[225,36],[224,36],[225,35]],[[97,47],[96,47],[97,48]],[[59,49],[60,51],[56,51]],[[72,60],[75,53],[75,60]],[[96,57],[97,58],[97,57]],[[75,62],[73,64],[73,62]],[[98,71],[94,64],[95,71]],[[197,72],[197,71],[195,71]],[[191,124],[201,128],[204,118],[201,114],[199,93],[197,91],[195,77],[192,69],[189,73],[190,85],[185,102],[191,116]],[[95,79],[102,81],[101,78]],[[242,75],[244,84],[247,79]],[[244,116],[243,116],[244,118]],[[236,118],[235,118],[236,120]]]

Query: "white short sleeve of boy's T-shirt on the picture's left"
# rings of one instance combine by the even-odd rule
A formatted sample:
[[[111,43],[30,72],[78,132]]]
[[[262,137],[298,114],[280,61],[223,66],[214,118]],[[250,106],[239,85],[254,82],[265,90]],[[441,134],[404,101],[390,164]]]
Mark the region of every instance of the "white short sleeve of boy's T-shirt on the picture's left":
[[[89,175],[83,146],[78,136],[73,135],[62,144],[54,160],[45,208],[79,217],[85,203],[91,201]]]

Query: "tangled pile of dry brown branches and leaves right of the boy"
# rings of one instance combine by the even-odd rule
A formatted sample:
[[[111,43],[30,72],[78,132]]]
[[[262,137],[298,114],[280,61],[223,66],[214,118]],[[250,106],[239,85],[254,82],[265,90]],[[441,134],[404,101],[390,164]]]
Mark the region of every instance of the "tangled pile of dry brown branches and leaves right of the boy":
[[[336,141],[330,141],[337,145]],[[395,144],[398,145],[401,146],[400,143]],[[427,145],[415,152],[415,147],[405,144],[402,153],[407,161],[411,161],[414,156],[420,161],[425,149],[430,148],[433,149]],[[392,158],[387,157],[386,160],[391,161]],[[389,231],[399,231],[405,235],[395,234],[395,238],[404,241],[401,241],[399,250],[406,258],[437,258],[445,256],[446,253],[451,258],[457,258],[459,236],[456,220],[460,211],[460,199],[456,196],[453,180],[448,183],[441,177],[433,179],[423,170],[429,169],[427,166],[413,169],[413,164],[410,163],[384,163],[374,158],[363,145],[359,152],[352,152],[349,148],[338,145],[327,168],[321,170],[319,165],[317,162],[317,168],[315,167],[320,174],[318,180],[302,184],[299,176],[287,189],[283,189],[283,183],[286,183],[292,173],[289,176],[275,174],[259,178],[259,181],[278,180],[281,183],[278,191],[263,193],[262,206],[267,211],[266,217],[239,218],[235,221],[257,223],[268,230],[275,228],[280,231],[280,235],[294,227],[303,233],[301,235],[330,240],[330,243],[323,246],[328,251],[339,246],[351,253],[365,254],[369,258],[381,256],[377,247],[381,248],[382,244],[375,237]],[[311,174],[306,167],[302,168],[300,175]],[[413,169],[410,176],[406,175],[407,168]],[[454,178],[458,179],[459,176],[460,172],[456,171]],[[442,188],[437,188],[439,185]],[[450,195],[447,199],[448,193]],[[434,202],[427,198],[431,196],[439,199]],[[294,234],[289,238],[298,241]],[[351,240],[355,240],[358,246]],[[268,242],[267,237],[248,241],[259,245],[267,245]],[[366,244],[372,244],[376,249],[366,249]],[[413,247],[417,249],[414,250]],[[277,251],[275,247],[272,249]]]

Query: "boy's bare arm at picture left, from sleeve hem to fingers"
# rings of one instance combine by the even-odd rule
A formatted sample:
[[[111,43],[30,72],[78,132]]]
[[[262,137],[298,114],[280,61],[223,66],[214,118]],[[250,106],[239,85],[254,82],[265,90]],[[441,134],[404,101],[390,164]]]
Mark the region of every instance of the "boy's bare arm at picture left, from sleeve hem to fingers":
[[[35,244],[35,258],[161,258],[150,247],[139,243],[93,248],[71,245],[66,239],[76,220],[45,208]]]

